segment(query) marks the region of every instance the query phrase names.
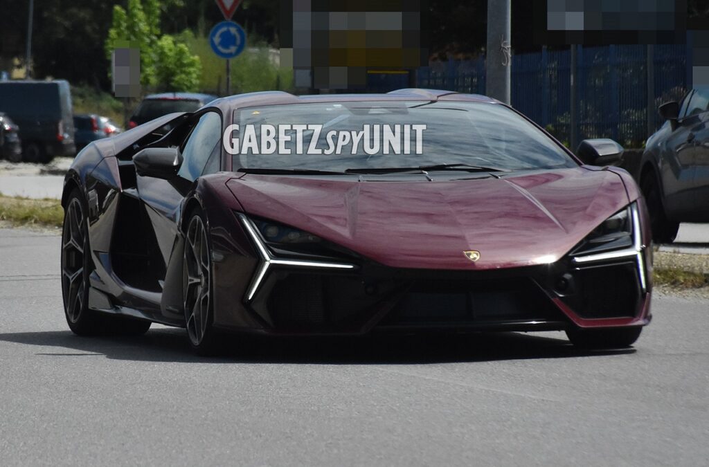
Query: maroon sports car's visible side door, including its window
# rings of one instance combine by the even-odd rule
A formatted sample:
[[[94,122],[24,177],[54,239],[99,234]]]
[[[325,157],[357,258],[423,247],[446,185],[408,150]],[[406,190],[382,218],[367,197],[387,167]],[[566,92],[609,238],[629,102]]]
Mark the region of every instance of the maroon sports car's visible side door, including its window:
[[[150,217],[166,266],[177,237],[177,222],[182,201],[194,186],[194,182],[201,176],[220,142],[219,113],[207,111],[196,115],[192,118],[191,125],[193,128],[180,146],[182,165],[177,172],[177,177],[163,180],[138,176],[140,201]]]

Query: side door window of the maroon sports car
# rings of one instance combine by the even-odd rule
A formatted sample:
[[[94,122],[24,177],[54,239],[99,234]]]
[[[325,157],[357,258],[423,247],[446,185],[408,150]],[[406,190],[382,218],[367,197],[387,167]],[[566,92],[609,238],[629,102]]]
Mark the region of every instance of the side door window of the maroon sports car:
[[[205,113],[189,135],[182,149],[182,167],[178,175],[189,181],[196,180],[204,171],[214,147],[220,143],[221,118],[216,112]]]

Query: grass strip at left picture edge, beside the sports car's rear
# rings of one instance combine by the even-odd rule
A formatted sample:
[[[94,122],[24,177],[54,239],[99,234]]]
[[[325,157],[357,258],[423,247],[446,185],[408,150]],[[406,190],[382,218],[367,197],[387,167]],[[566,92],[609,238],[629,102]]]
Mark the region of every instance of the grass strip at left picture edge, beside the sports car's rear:
[[[64,209],[57,199],[13,198],[0,195],[0,220],[20,226],[61,227]]]

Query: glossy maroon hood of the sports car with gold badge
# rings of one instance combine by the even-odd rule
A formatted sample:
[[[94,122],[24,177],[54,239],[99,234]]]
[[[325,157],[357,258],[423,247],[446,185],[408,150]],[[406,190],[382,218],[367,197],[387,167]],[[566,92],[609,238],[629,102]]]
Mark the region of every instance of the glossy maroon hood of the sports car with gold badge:
[[[227,185],[247,214],[399,268],[554,262],[629,201],[618,174],[584,167],[500,179],[388,180],[247,174]],[[467,250],[479,260],[467,259]]]

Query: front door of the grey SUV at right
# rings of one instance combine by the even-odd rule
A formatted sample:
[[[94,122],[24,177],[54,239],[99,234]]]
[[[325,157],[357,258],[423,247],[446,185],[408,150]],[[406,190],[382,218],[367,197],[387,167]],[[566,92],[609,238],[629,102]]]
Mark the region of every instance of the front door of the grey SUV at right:
[[[694,140],[700,121],[697,113],[692,113],[696,99],[696,91],[683,99],[680,118],[660,147],[664,206],[669,218],[684,218],[694,208]]]

